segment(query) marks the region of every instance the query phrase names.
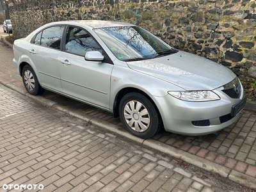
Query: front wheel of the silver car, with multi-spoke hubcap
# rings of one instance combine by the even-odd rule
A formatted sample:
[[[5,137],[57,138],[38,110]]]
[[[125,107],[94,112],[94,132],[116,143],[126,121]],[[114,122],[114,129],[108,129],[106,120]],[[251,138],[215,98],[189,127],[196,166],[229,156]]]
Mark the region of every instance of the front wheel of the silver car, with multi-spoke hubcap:
[[[125,129],[142,139],[151,138],[161,127],[156,107],[141,93],[124,95],[120,100],[119,115]]]

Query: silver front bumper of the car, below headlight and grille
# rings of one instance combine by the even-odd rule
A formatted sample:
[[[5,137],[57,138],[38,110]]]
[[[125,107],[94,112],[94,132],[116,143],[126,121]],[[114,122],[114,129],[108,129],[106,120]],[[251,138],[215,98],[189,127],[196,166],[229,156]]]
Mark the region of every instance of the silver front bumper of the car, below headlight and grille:
[[[222,92],[218,95],[220,100],[209,102],[186,102],[171,95],[156,98],[164,129],[177,134],[203,135],[233,124],[245,105],[245,95],[242,92],[239,99]]]

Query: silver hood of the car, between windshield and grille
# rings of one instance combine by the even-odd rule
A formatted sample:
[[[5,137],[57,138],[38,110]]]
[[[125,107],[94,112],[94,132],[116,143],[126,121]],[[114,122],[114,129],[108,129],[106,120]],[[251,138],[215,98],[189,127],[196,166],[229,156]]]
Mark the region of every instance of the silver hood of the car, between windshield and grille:
[[[129,61],[127,65],[185,90],[214,90],[236,77],[227,67],[184,51],[151,60]]]

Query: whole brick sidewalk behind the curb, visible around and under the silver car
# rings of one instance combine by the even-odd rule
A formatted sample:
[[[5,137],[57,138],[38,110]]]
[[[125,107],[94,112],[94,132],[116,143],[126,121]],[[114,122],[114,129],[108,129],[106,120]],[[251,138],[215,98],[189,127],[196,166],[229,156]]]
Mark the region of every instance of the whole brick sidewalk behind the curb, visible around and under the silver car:
[[[10,86],[13,84],[23,88],[21,77],[12,65],[12,49],[0,43],[0,77],[6,79]],[[10,83],[11,82],[11,83]],[[4,82],[2,82],[5,84]],[[25,92],[25,89],[24,89]],[[67,99],[52,92],[45,92],[43,97],[58,102],[64,108],[76,109],[78,113],[90,115],[113,125],[122,126],[119,119],[100,109],[93,108],[81,102]],[[161,132],[154,140],[175,147],[184,152],[202,157],[212,163],[220,164],[231,171],[256,179],[256,113],[244,110],[241,118],[229,127],[206,136],[182,136]],[[239,182],[239,181],[238,181]]]

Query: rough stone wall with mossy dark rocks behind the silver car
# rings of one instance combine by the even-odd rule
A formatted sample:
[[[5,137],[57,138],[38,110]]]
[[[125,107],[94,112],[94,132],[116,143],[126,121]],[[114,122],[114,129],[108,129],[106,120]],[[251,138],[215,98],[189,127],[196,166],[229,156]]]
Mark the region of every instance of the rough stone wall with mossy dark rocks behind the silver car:
[[[58,20],[122,20],[256,79],[255,0],[37,0],[10,9],[13,35]]]

